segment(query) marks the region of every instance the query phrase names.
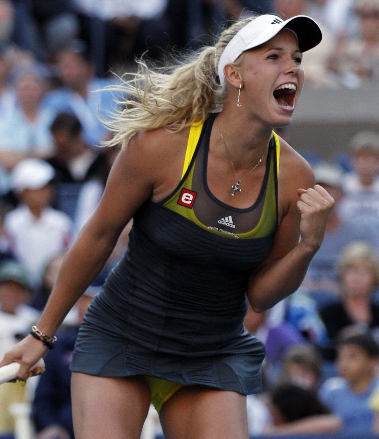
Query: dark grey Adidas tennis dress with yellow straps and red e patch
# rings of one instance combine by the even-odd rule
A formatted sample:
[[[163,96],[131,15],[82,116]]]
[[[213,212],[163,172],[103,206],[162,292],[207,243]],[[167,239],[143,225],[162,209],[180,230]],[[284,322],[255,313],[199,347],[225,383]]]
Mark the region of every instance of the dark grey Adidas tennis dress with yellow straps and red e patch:
[[[264,345],[243,319],[249,273],[268,254],[278,222],[278,140],[258,199],[233,208],[206,182],[215,117],[191,128],[190,164],[175,191],[135,214],[126,253],[84,317],[71,371],[261,391]]]

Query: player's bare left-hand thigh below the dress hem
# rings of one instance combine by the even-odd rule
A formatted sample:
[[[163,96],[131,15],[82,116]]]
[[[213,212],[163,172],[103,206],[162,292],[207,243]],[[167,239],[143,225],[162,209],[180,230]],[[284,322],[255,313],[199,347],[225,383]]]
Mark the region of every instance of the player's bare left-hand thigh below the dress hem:
[[[103,378],[73,372],[72,418],[76,439],[139,439],[150,405],[141,376]]]

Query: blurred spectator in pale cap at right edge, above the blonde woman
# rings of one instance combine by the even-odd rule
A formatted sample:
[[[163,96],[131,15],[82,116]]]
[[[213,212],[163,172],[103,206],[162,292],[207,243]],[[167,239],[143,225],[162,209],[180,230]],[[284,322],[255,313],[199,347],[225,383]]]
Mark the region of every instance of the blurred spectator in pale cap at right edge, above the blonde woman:
[[[346,196],[339,205],[339,215],[356,223],[379,227],[379,134],[358,133],[350,140],[354,168],[344,181]]]

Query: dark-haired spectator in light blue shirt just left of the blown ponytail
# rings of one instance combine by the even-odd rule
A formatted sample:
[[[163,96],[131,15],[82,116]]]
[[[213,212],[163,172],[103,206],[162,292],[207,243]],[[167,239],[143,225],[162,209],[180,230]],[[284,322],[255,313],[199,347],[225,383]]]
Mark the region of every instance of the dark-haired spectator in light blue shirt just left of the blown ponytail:
[[[47,103],[51,111],[70,112],[80,120],[85,140],[91,146],[100,145],[107,130],[100,118],[107,119],[114,109],[114,96],[104,87],[108,79],[94,77],[94,68],[83,42],[73,42],[58,53],[58,77],[63,87],[51,92]]]

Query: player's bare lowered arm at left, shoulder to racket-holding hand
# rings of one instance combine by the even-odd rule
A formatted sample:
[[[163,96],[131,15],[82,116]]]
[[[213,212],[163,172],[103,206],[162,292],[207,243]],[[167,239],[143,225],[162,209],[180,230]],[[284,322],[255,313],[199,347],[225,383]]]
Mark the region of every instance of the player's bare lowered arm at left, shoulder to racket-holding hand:
[[[146,140],[156,143],[150,133],[137,136],[116,158],[96,211],[65,255],[37,324],[43,334],[54,335],[66,314],[105,265],[125,225],[159,186],[159,158],[152,153],[156,145],[147,146]],[[42,342],[28,335],[4,356],[0,367],[17,361],[21,363],[18,378],[25,379],[29,368],[46,349]]]

